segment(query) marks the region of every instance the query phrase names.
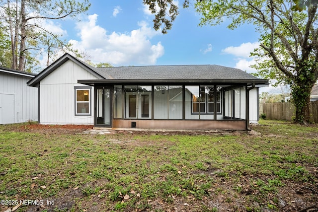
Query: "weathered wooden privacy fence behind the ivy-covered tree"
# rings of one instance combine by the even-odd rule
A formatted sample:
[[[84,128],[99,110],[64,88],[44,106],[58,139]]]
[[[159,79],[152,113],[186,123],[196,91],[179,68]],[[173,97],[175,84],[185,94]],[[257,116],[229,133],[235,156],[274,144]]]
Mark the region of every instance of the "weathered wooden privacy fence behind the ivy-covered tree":
[[[290,102],[263,103],[260,104],[259,114],[265,114],[266,119],[278,119],[292,121],[295,106]],[[318,101],[310,102],[311,121],[318,123]]]

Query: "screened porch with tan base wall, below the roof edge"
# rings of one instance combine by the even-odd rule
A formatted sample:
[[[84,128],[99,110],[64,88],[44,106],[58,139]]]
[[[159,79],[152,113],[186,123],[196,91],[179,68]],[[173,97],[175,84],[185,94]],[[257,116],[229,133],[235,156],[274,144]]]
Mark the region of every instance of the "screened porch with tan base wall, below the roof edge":
[[[247,130],[250,107],[258,116],[255,83],[113,84],[113,81],[99,81],[93,86],[95,127]]]

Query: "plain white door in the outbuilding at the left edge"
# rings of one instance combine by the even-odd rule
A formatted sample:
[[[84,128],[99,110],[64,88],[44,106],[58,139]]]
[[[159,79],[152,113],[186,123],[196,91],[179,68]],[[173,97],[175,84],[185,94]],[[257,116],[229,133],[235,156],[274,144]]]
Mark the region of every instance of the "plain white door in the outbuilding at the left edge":
[[[0,124],[14,123],[14,95],[0,94]]]

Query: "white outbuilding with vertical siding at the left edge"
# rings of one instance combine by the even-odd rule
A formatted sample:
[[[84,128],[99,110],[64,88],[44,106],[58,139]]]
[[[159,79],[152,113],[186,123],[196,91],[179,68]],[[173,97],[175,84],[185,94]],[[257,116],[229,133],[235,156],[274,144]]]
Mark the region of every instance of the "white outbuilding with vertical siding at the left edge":
[[[0,67],[0,124],[38,121],[38,88],[26,84],[35,75]]]

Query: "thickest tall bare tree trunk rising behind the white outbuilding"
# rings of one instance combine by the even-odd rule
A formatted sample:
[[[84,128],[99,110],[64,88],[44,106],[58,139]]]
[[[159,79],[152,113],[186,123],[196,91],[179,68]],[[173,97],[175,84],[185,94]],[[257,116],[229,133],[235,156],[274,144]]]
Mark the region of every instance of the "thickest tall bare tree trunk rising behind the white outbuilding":
[[[20,40],[20,53],[19,53],[19,71],[24,69],[24,50],[26,40],[26,20],[25,20],[25,0],[21,0],[21,40]]]

